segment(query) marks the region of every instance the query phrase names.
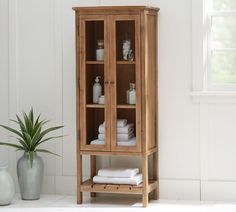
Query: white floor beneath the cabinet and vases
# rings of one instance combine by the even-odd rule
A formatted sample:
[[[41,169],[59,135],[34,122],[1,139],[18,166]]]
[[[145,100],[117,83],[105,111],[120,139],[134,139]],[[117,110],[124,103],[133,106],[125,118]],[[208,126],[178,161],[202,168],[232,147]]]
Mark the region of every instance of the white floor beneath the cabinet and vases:
[[[76,205],[74,196],[42,195],[40,200],[23,201],[16,196],[9,206],[0,207],[0,212],[82,212],[82,211],[157,211],[157,212],[235,212],[236,203],[199,201],[151,201],[148,208],[142,208],[141,199],[127,197],[85,196],[84,204]]]

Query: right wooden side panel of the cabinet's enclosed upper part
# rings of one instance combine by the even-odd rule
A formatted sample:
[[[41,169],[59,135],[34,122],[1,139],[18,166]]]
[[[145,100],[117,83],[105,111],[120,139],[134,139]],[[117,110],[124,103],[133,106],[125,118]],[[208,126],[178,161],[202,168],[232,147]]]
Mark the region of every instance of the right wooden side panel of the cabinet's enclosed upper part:
[[[157,146],[157,16],[147,14],[146,139],[148,149]]]

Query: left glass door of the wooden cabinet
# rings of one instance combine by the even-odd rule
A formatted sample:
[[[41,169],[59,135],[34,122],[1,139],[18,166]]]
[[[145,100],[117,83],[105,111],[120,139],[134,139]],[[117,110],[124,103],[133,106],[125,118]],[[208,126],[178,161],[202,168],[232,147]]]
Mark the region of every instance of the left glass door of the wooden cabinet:
[[[106,16],[80,16],[79,105],[81,150],[110,151]]]

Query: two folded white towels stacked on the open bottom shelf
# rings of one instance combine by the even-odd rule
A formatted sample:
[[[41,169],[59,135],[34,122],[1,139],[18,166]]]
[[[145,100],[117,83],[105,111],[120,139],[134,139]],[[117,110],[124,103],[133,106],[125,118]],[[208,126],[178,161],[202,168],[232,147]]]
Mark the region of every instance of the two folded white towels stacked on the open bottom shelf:
[[[94,183],[139,185],[142,183],[142,174],[138,168],[104,168],[93,177]]]

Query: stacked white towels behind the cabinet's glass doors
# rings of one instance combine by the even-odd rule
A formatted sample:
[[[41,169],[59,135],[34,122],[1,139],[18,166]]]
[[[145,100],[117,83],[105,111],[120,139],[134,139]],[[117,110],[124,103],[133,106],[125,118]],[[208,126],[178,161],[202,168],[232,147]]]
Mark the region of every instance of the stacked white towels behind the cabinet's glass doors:
[[[98,139],[91,141],[90,144],[105,144],[105,122],[99,125]],[[136,138],[134,136],[134,124],[128,124],[127,119],[117,120],[117,145],[118,146],[135,146]]]

